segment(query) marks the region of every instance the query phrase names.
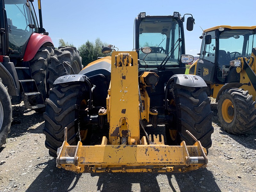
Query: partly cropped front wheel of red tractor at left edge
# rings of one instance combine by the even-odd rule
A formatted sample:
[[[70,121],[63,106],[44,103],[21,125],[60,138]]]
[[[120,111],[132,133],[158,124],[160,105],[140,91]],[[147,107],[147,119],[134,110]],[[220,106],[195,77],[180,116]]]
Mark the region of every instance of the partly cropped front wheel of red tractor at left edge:
[[[7,88],[0,78],[0,148],[6,142],[12,123],[12,104]]]

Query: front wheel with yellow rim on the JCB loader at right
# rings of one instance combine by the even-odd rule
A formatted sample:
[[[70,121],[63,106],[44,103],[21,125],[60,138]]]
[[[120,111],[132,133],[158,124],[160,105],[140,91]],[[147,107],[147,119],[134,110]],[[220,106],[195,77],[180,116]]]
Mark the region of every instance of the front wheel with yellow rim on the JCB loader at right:
[[[222,128],[228,133],[249,132],[256,121],[255,102],[244,89],[227,89],[218,101],[218,116]]]

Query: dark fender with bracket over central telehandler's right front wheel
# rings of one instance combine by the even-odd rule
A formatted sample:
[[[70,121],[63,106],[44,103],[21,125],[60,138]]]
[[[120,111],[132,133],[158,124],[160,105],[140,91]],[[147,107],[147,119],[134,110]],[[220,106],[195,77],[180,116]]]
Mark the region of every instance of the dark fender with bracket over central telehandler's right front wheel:
[[[197,75],[184,75],[184,74],[176,74],[173,75],[167,84],[164,86],[164,108],[167,109],[167,94],[168,94],[168,87],[170,84],[174,82],[176,84],[187,86],[187,87],[207,87],[207,84],[204,82],[204,79]]]

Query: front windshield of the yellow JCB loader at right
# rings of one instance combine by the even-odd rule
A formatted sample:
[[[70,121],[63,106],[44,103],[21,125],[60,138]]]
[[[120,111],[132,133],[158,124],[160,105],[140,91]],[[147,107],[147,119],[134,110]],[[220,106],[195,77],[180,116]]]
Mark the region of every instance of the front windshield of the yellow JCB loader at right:
[[[219,37],[218,63],[229,66],[231,60],[250,56],[255,46],[256,36],[252,30],[224,31]]]

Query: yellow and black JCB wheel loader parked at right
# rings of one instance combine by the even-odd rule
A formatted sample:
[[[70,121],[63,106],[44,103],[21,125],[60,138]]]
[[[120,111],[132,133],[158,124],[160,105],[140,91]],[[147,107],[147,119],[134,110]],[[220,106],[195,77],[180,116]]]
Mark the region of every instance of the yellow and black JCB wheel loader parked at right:
[[[255,33],[256,26],[204,30],[199,60],[189,68],[189,74],[204,79],[208,96],[218,102],[221,126],[233,134],[255,126]]]

